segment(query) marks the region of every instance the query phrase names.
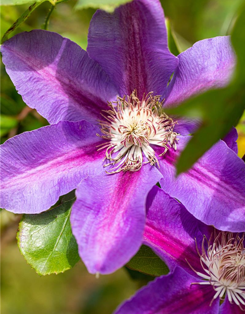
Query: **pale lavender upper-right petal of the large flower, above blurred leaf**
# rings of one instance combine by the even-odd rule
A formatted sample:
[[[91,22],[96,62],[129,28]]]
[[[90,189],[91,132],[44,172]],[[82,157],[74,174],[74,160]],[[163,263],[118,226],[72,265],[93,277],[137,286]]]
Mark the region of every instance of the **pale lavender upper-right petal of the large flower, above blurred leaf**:
[[[229,36],[198,41],[178,55],[179,65],[168,86],[165,106],[178,105],[196,94],[228,84],[235,67]]]

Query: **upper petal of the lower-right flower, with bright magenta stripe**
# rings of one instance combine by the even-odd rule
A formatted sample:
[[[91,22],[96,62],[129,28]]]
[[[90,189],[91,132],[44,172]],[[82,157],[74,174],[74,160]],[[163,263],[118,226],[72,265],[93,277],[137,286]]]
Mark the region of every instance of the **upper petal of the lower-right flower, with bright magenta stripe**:
[[[186,260],[203,272],[199,249],[203,235],[198,229],[198,220],[183,205],[154,186],[147,197],[147,220],[144,231],[144,244],[150,246],[169,267],[176,264],[195,275]]]

